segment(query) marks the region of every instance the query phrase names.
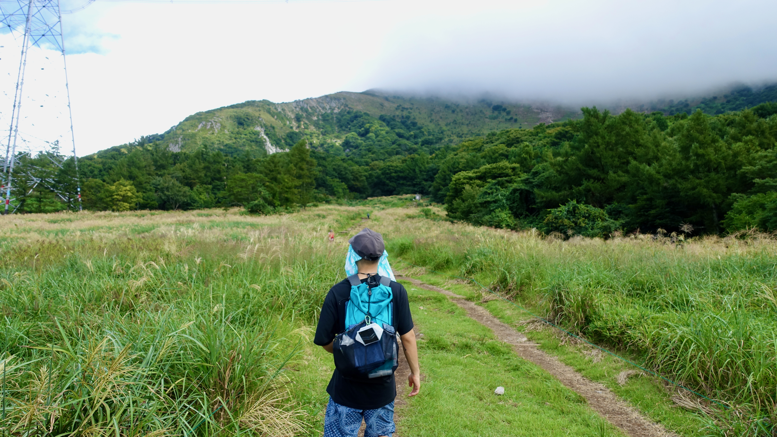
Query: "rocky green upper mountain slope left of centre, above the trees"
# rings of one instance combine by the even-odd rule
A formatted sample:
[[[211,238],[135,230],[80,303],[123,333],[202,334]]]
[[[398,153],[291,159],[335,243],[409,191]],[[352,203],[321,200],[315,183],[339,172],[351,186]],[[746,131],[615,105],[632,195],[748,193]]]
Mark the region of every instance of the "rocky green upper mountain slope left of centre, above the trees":
[[[274,103],[253,100],[186,117],[162,135],[146,140],[171,151],[206,147],[225,154],[253,156],[287,150],[305,138],[313,146],[339,144],[349,134],[351,116],[367,113],[387,123],[401,147],[485,134],[507,127],[532,127],[579,116],[573,109],[517,105],[494,99],[470,103],[437,97],[391,95],[377,91],[338,92],[315,99]],[[269,144],[268,144],[269,143]]]

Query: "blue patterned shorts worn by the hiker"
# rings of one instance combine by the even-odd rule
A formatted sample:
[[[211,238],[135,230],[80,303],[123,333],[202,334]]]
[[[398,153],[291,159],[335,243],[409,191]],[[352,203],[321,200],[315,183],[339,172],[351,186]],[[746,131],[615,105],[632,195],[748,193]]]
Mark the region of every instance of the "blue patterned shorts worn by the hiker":
[[[364,437],[378,437],[394,432],[394,403],[375,410],[355,410],[337,404],[329,397],[324,416],[324,437],[356,437],[361,427],[361,419],[367,428]]]

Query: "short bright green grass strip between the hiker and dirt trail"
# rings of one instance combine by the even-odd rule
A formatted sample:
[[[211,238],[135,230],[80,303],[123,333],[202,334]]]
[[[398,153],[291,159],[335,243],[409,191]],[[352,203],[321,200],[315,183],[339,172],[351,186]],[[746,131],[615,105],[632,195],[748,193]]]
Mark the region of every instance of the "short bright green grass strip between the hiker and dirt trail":
[[[399,435],[622,435],[583,397],[517,357],[455,303],[404,285],[423,333],[425,379],[401,413]],[[493,393],[499,386],[503,396]]]

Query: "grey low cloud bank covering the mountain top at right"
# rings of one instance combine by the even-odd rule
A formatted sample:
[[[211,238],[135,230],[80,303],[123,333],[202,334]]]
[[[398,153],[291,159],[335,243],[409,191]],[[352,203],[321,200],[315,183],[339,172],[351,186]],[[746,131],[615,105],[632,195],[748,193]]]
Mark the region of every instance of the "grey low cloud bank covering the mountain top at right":
[[[517,2],[419,15],[366,77],[433,94],[570,105],[677,99],[777,78],[774,2]],[[366,85],[366,84],[365,84]]]

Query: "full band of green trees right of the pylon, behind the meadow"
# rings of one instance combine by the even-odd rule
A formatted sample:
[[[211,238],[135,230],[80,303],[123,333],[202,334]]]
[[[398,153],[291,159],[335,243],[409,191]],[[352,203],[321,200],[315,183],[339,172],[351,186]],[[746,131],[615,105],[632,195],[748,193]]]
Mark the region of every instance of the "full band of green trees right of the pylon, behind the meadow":
[[[172,151],[144,137],[79,161],[84,205],[272,213],[417,192],[444,203],[452,220],[567,235],[671,232],[685,223],[701,233],[777,230],[777,105],[717,116],[582,113],[581,120],[500,130],[455,146],[441,141],[441,128],[411,116],[352,110],[315,120],[331,136],[311,143],[297,135],[283,153],[225,154],[207,144]],[[251,116],[233,114],[246,127],[256,122]],[[243,130],[239,136],[248,135]],[[68,207],[40,190],[24,205],[30,212]]]

